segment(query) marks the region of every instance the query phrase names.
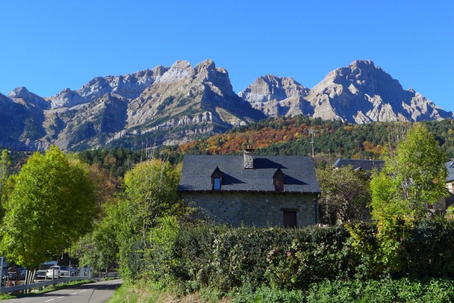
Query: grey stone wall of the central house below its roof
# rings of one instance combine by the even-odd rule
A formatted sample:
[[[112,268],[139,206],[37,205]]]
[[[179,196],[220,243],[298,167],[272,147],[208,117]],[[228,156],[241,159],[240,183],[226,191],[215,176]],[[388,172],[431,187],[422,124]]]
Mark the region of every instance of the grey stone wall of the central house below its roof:
[[[246,226],[282,226],[282,210],[295,210],[297,225],[317,223],[317,194],[252,192],[182,192],[198,208],[197,216],[217,223]]]

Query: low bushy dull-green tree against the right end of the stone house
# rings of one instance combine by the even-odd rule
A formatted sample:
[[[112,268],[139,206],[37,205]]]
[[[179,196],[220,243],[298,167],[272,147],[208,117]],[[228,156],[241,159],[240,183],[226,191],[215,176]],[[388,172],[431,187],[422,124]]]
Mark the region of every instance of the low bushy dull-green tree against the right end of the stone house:
[[[356,171],[352,166],[327,167],[318,170],[317,177],[322,192],[319,206],[323,223],[358,221],[368,216],[371,195],[364,171]]]

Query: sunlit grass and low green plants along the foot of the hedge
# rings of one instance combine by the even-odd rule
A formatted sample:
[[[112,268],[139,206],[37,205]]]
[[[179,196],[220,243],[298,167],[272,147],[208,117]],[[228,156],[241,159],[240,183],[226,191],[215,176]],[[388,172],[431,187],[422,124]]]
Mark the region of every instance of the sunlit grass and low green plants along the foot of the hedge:
[[[138,281],[124,284],[107,303],[450,303],[454,282],[450,279],[324,280],[307,290],[257,289],[242,287],[222,295],[215,289],[201,288],[187,295],[172,289]]]

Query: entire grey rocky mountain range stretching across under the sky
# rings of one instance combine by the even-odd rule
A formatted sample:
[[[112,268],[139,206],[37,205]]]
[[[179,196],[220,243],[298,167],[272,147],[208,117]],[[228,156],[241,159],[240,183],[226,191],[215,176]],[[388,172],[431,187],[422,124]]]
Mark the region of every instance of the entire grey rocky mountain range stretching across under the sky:
[[[124,76],[96,77],[79,90],[40,97],[25,87],[0,94],[0,146],[64,150],[189,142],[265,117],[304,114],[364,124],[454,117],[404,90],[369,60],[330,72],[309,89],[292,78],[258,77],[238,95],[207,59]]]

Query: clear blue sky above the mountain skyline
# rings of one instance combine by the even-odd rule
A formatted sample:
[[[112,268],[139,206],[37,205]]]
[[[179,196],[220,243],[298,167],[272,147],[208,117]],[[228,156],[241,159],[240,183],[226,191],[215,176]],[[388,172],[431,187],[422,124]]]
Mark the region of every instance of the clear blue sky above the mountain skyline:
[[[454,110],[453,1],[1,1],[0,92],[41,96],[95,76],[211,58],[236,92],[258,76],[313,87],[371,59]]]

